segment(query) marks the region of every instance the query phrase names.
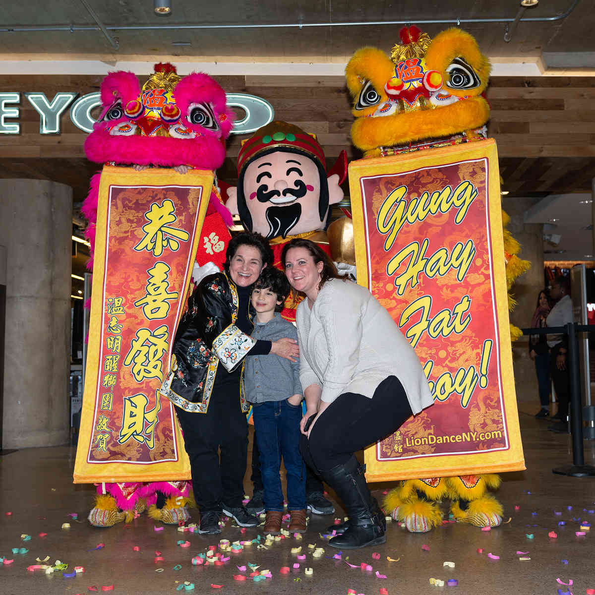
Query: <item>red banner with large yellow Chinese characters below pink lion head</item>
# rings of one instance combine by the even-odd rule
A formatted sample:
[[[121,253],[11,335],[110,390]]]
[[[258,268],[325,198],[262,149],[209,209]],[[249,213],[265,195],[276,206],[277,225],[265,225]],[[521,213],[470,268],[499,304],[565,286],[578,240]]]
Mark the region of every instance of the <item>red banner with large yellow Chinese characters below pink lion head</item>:
[[[74,483],[190,478],[174,406],[158,390],[212,181],[211,171],[102,171]]]

